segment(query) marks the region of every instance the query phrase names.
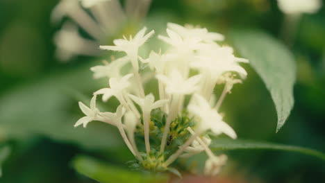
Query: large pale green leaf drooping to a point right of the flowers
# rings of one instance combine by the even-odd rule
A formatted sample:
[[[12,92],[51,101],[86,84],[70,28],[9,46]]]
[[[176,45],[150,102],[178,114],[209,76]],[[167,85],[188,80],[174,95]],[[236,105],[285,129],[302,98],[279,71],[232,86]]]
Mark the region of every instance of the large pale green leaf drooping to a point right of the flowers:
[[[235,49],[249,59],[271,93],[278,115],[278,132],[294,105],[294,57],[281,42],[259,30],[233,31],[231,37]]]

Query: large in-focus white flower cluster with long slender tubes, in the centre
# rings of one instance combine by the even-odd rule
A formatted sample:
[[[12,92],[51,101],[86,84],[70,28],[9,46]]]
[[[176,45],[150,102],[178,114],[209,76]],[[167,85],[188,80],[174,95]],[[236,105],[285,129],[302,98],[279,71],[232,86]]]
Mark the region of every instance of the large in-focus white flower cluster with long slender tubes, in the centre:
[[[167,36],[158,35],[160,40],[170,45],[169,49],[165,53],[151,51],[148,58],[141,58],[138,55],[140,46],[154,33],[151,30],[146,34],[146,31],[147,28],[142,28],[135,37],[114,40],[115,46],[100,46],[101,49],[120,51],[125,55],[110,64],[91,68],[94,78],[109,78],[109,87],[94,92],[90,108],[79,103],[86,116],[76,122],[75,126],[83,124],[85,127],[90,121],[115,125],[126,146],[140,164],[144,164],[146,161],[153,162],[150,158],[151,150],[156,148],[150,143],[151,139],[157,138],[150,137],[153,110],[158,109],[166,114],[162,135],[159,137],[160,147],[154,150],[157,156],[167,156],[165,148],[172,137],[171,124],[174,123],[173,129],[179,127],[180,124],[175,121],[185,111],[188,118],[195,122],[192,127],[184,129],[189,137],[172,154],[164,156],[160,166],[167,168],[178,157],[190,157],[205,151],[208,155],[205,173],[215,175],[226,162],[226,156],[217,157],[212,153],[208,148],[211,140],[206,132],[215,135],[224,133],[233,139],[237,137],[233,128],[223,121],[217,110],[226,93],[231,92],[235,83],[241,82],[235,79],[235,73],[241,78],[247,76],[239,63],[248,60],[236,58],[231,47],[220,46],[217,42],[224,40],[224,36],[219,33],[209,33],[206,28],[183,27],[172,23],[167,24]],[[131,69],[128,74],[123,75],[121,68],[128,63],[131,63]],[[153,94],[144,91],[145,71],[139,67],[140,64],[147,65],[150,70],[147,72],[154,73],[151,79],[158,82],[157,101]],[[217,84],[224,84],[224,92],[218,101],[213,95]],[[100,112],[96,107],[98,95],[102,95],[104,102],[113,96],[117,98],[120,105],[116,113]],[[185,103],[185,96],[190,98],[190,102]],[[140,153],[135,141],[137,128],[143,130],[145,153]]]

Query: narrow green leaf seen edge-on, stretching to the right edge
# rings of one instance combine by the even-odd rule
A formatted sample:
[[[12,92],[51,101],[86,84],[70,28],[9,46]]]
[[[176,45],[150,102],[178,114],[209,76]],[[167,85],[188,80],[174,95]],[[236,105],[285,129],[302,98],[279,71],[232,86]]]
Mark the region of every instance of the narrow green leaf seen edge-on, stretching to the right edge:
[[[295,153],[301,153],[317,157],[325,161],[325,154],[310,148],[302,148],[299,146],[283,145],[278,143],[267,143],[261,141],[242,140],[242,139],[214,139],[210,145],[212,150],[283,150]]]

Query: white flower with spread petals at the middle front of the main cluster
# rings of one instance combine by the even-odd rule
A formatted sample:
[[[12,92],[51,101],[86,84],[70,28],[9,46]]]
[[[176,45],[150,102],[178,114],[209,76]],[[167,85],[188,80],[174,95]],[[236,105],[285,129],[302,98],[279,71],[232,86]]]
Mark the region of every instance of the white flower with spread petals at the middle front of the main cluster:
[[[179,71],[174,69],[169,77],[158,74],[156,78],[166,85],[167,94],[192,94],[197,91],[197,83],[201,79],[201,76],[196,75],[186,79]]]

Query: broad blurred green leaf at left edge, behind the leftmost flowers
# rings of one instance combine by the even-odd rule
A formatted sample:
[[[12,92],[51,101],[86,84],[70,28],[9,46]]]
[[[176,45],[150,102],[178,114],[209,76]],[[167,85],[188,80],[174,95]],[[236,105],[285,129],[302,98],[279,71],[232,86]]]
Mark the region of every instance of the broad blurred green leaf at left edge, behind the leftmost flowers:
[[[102,85],[93,80],[87,66],[53,73],[35,83],[11,89],[0,98],[1,137],[25,139],[42,135],[91,150],[121,147],[122,140],[110,125],[95,121],[87,128],[73,126],[83,114],[70,91],[88,94]],[[90,98],[85,101],[88,105]]]

